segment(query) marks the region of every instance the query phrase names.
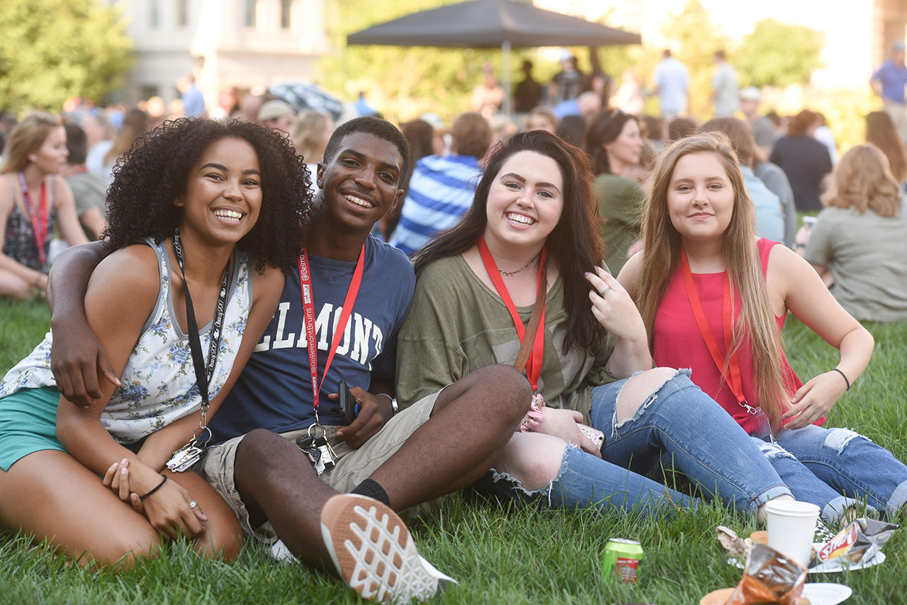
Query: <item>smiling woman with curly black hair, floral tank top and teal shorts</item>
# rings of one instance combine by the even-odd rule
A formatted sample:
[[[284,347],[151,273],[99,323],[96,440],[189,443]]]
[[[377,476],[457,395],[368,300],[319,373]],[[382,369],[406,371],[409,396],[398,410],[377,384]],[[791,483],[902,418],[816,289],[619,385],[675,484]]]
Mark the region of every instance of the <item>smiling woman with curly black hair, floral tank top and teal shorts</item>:
[[[166,122],[133,145],[108,195],[109,254],[84,299],[120,377],[92,405],[60,396],[52,328],[0,380],[5,528],[82,564],[131,564],[180,534],[206,555],[236,556],[227,503],[165,465],[193,435],[208,440],[273,315],[281,268],[301,249],[307,181],[288,141],[248,122]]]

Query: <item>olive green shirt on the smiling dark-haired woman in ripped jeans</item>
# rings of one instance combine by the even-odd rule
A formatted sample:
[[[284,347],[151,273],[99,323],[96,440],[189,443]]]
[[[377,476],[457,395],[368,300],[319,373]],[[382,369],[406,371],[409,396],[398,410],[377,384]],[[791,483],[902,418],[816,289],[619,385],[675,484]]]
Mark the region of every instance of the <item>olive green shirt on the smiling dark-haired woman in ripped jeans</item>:
[[[529,324],[532,306],[517,311],[523,325]],[[546,405],[578,410],[588,422],[592,386],[618,379],[605,369],[612,338],[594,349],[574,345],[563,353],[567,310],[560,277],[545,298],[544,327],[541,395]],[[462,255],[437,260],[416,280],[413,306],[397,335],[397,400],[401,407],[413,405],[473,370],[512,366],[519,353],[516,327],[497,292]]]

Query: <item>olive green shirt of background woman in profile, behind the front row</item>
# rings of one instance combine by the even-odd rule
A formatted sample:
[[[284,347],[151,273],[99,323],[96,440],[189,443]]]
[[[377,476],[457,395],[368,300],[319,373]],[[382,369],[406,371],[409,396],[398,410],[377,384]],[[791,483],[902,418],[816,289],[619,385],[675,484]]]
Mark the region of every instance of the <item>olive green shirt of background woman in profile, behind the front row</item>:
[[[592,181],[595,200],[604,218],[599,234],[605,245],[605,262],[612,275],[617,275],[627,262],[627,250],[641,237],[643,205],[646,191],[637,181],[614,174],[600,174]]]

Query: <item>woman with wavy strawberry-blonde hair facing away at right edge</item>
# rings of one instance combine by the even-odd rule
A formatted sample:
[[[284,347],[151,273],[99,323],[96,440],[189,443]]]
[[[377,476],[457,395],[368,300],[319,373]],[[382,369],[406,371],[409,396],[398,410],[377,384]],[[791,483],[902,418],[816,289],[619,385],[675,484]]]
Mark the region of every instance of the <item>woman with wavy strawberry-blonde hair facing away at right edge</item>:
[[[853,317],[907,319],[907,218],[883,152],[868,143],[847,151],[822,202],[804,258]]]

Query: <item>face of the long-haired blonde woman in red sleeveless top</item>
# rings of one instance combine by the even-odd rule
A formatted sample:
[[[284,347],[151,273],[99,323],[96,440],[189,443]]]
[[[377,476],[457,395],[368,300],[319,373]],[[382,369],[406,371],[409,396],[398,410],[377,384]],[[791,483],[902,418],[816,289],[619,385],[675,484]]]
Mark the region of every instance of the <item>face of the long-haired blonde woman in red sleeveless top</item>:
[[[734,215],[734,187],[716,153],[688,153],[674,166],[668,215],[684,240],[721,239]]]

